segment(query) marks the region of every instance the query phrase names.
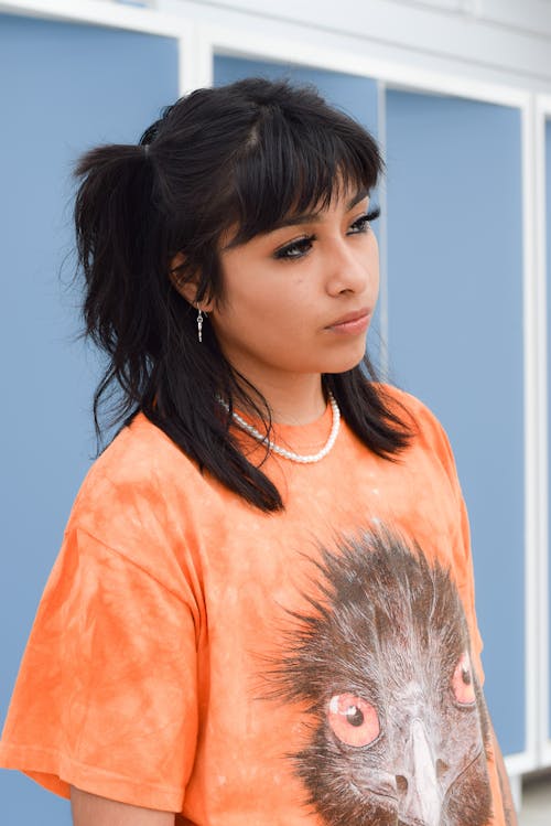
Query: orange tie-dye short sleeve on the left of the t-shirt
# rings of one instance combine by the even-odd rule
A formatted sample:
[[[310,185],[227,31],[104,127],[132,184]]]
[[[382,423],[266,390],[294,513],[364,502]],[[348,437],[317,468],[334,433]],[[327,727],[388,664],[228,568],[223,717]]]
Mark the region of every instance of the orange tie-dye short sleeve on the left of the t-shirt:
[[[69,784],[180,812],[197,737],[191,607],[78,525],[31,631],[0,764],[65,797]]]

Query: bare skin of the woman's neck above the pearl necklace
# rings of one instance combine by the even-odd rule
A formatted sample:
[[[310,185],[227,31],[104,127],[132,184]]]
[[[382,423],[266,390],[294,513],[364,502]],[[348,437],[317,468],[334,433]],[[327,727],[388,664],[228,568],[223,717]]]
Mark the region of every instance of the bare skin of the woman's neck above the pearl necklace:
[[[309,425],[318,419],[326,407],[320,374],[285,376],[284,380],[266,376],[250,379],[268,403],[272,420],[279,425]]]

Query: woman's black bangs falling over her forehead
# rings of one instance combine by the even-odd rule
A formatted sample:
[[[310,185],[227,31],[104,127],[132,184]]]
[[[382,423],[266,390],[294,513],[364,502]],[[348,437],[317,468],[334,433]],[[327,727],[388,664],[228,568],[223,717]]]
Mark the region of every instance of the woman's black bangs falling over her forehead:
[[[298,119],[266,107],[236,158],[226,218],[238,227],[230,247],[283,219],[327,208],[344,194],[367,195],[383,170],[379,148],[342,112]]]

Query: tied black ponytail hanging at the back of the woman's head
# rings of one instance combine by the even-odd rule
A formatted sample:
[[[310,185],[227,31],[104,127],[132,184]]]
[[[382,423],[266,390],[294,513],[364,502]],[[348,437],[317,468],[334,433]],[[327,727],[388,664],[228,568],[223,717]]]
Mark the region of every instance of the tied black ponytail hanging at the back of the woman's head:
[[[163,223],[153,205],[154,170],[147,146],[93,149],[79,160],[75,175],[82,179],[75,227],[86,281],[85,329],[110,358],[94,396],[99,436],[104,397],[112,401],[118,384],[123,395],[112,405],[109,423],[127,416],[140,405],[147,386],[143,356],[159,356],[155,330],[163,312],[152,288],[165,270],[159,260]]]

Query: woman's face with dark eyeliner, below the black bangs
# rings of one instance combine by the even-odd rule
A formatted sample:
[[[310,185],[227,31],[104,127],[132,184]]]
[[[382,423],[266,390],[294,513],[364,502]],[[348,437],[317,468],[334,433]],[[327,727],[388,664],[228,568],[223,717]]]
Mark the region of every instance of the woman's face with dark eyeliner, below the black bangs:
[[[247,244],[223,245],[223,299],[206,309],[219,346],[252,384],[342,373],[364,355],[379,288],[364,193]],[[207,322],[208,323],[208,322]]]

